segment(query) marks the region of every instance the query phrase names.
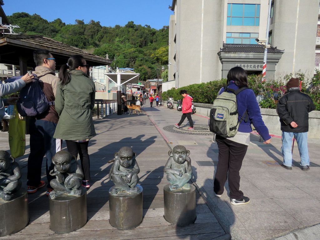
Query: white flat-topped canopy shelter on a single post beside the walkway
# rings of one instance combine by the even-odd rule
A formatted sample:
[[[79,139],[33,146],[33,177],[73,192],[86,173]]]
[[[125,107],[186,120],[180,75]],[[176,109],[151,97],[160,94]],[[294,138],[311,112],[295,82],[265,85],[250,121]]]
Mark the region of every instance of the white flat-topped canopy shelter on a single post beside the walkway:
[[[116,73],[105,73],[109,80],[114,82],[118,86],[117,90],[117,105],[118,109],[121,109],[121,86],[124,84],[138,84],[140,73],[135,73],[132,70]],[[117,112],[121,115],[121,111]]]

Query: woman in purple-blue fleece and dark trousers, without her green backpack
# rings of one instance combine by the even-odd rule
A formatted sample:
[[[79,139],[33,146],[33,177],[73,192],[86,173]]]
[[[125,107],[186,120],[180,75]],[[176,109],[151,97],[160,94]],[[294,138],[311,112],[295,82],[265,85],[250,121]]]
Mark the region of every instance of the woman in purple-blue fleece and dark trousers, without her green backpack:
[[[231,68],[227,76],[227,88],[238,90],[248,87],[248,77],[241,67]],[[224,92],[221,88],[218,95]],[[229,91],[228,91],[229,92]],[[231,92],[231,91],[230,91]],[[239,128],[234,137],[216,135],[219,155],[217,171],[214,176],[214,195],[221,197],[228,176],[230,203],[233,205],[248,204],[250,199],[243,195],[240,188],[242,161],[250,143],[251,124],[259,132],[264,144],[269,144],[271,137],[268,128],[262,120],[260,108],[252,89],[244,89],[236,95]]]

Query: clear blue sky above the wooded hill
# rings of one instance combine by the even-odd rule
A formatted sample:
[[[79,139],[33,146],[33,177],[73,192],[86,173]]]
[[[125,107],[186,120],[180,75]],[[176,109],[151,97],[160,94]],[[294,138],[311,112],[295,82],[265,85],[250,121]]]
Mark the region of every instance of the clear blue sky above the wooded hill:
[[[173,14],[168,9],[171,4],[172,0],[4,0],[2,8],[7,16],[14,12],[36,13],[48,21],[60,18],[66,24],[74,24],[79,19],[114,27],[134,21],[159,29],[169,25]]]

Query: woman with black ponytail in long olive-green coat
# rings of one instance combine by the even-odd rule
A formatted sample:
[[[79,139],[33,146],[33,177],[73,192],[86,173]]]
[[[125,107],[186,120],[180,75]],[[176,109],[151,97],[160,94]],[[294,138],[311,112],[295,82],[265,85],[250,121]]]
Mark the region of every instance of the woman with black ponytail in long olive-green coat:
[[[55,108],[60,118],[54,138],[66,140],[68,152],[80,156],[83,186],[90,188],[89,140],[96,135],[92,121],[95,86],[87,76],[88,65],[81,55],[73,55],[61,66]]]

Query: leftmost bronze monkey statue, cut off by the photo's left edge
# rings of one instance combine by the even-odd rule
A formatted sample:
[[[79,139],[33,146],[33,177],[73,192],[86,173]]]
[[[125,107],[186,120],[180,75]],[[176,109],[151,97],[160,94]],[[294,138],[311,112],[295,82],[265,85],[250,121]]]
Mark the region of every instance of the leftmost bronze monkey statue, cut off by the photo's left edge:
[[[14,193],[21,188],[19,164],[7,151],[0,150],[0,197],[11,201]]]

